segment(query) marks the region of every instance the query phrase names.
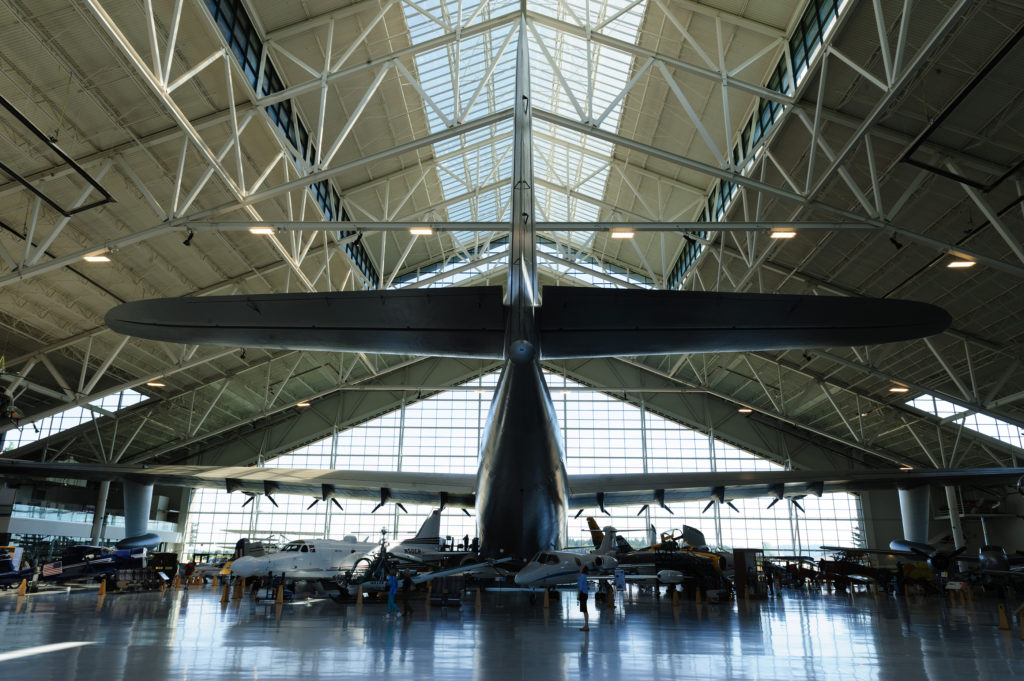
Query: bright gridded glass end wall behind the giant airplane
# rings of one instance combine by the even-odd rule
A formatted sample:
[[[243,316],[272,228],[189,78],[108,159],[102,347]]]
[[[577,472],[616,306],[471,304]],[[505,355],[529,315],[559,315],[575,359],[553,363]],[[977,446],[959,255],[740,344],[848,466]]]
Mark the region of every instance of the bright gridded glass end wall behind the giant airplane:
[[[489,374],[458,389],[410,402],[389,414],[338,431],[317,442],[266,461],[267,467],[339,470],[400,470],[475,473],[483,425],[498,375]],[[587,390],[560,376],[547,374],[565,441],[568,473],[658,473],[735,470],[773,470],[777,464],[761,459],[714,436],[683,427],[650,411],[603,393]],[[411,393],[412,394],[412,393]],[[311,498],[281,495],[274,508],[265,498],[246,507],[243,495],[219,490],[197,490],[189,508],[185,552],[228,551],[242,536],[288,539],[355,535],[388,539],[416,533],[431,511],[407,504],[408,513],[394,504],[371,514],[375,502],[340,500],[344,511]],[[708,543],[722,548],[764,548],[773,553],[816,554],[818,547],[854,545],[862,536],[862,513],[857,497],[847,494],[809,497],[805,512],[786,502],[767,509],[769,500],[752,499],[703,511],[707,502],[671,504],[673,514],[660,508],[622,507],[612,515],[598,514],[602,525],[613,525],[634,546],[646,543],[647,529],[658,534],[683,524],[705,533]],[[587,546],[588,509],[568,519],[570,544]],[[442,516],[441,533],[456,538],[476,535],[475,518],[460,509]]]

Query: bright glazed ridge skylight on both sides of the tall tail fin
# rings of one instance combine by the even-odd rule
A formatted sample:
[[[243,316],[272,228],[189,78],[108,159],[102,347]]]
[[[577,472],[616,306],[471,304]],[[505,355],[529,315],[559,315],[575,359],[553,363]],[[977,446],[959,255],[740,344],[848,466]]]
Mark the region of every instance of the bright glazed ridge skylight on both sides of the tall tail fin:
[[[518,6],[514,1],[494,1],[481,8],[479,2],[471,0],[459,3],[426,0],[402,5],[414,44],[442,36],[456,27],[469,29],[479,22],[515,11]],[[591,27],[615,16],[601,29],[602,33],[635,42],[645,6],[643,2],[630,6],[628,0],[570,0],[557,7],[538,5],[537,11],[566,22],[584,20]],[[589,20],[586,18],[588,10]],[[417,55],[417,77],[428,99],[424,111],[431,132],[512,107],[517,39],[517,25],[503,24]],[[587,120],[600,119],[602,128],[617,130],[622,102],[616,102],[615,98],[629,79],[632,57],[592,44],[588,59],[586,40],[543,26],[528,29],[528,39],[530,84],[536,105],[574,119],[580,119],[583,112]],[[561,78],[556,76],[553,65]],[[590,92],[591,76],[597,74],[600,78],[593,79],[595,85]],[[568,85],[568,92],[563,82]],[[446,219],[510,219],[511,145],[511,120],[434,145],[434,158],[439,159],[437,176],[445,200]],[[467,151],[459,153],[459,150]],[[597,200],[604,196],[611,155],[612,145],[608,142],[535,121],[534,176],[538,219],[597,220],[600,212]],[[589,241],[590,235],[565,232],[557,238],[579,248]],[[468,232],[461,239],[466,243]]]

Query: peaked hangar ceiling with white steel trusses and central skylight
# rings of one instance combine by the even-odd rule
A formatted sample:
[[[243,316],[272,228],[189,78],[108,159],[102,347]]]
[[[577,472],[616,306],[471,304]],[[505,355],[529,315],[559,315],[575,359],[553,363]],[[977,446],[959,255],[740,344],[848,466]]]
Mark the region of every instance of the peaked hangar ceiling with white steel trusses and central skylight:
[[[150,397],[5,456],[255,461],[493,371],[178,347],[102,317],[159,296],[503,283],[519,19],[505,0],[4,0],[0,386],[23,428]],[[1024,8],[566,0],[525,26],[543,283],[900,297],[954,320],[870,348],[547,369],[805,467],[1024,454],[905,405],[1024,426]]]

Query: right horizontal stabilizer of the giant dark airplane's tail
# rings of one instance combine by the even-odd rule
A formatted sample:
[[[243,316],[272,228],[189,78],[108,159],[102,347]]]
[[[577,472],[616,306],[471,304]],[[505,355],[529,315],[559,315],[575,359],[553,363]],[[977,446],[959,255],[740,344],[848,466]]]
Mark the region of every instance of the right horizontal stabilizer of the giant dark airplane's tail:
[[[869,345],[951,324],[909,300],[551,286],[539,316],[546,359]]]

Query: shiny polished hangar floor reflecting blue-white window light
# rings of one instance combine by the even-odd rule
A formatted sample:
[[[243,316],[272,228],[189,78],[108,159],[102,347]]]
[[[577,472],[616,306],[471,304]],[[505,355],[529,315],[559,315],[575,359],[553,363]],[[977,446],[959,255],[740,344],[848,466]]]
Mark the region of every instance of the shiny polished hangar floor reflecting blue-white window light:
[[[488,593],[479,609],[472,597],[461,610],[428,613],[420,602],[412,618],[389,620],[370,602],[222,605],[209,588],[102,601],[95,591],[8,592],[0,679],[1024,678],[1024,642],[997,628],[994,601],[785,594],[673,607],[635,594],[591,612],[584,633],[570,593],[547,612],[524,594]]]

